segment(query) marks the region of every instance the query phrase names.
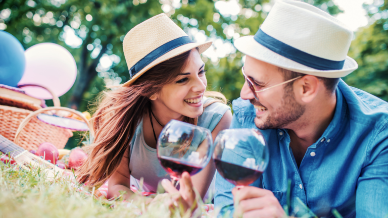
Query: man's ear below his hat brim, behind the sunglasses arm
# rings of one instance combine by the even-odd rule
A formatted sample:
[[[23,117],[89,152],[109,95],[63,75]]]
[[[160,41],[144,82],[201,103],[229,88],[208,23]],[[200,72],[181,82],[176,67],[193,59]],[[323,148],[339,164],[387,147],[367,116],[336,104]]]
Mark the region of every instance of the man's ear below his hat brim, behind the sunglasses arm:
[[[305,103],[317,96],[321,83],[316,76],[305,75],[294,83],[294,92]]]

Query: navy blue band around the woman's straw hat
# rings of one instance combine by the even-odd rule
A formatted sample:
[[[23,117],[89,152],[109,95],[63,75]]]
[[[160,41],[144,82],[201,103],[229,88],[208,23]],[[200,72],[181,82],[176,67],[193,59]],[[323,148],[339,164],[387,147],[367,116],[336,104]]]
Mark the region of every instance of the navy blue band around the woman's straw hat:
[[[193,41],[188,36],[182,36],[176,39],[173,39],[158,48],[154,49],[150,53],[148,53],[144,58],[142,58],[140,61],[138,61],[136,64],[134,64],[129,69],[129,75],[131,78],[136,75],[138,72],[140,72],[142,69],[147,67],[149,64],[151,64],[153,61],[157,60],[158,58],[165,55],[167,52],[171,51],[172,49],[175,49],[179,46],[182,46],[184,44],[193,43]]]

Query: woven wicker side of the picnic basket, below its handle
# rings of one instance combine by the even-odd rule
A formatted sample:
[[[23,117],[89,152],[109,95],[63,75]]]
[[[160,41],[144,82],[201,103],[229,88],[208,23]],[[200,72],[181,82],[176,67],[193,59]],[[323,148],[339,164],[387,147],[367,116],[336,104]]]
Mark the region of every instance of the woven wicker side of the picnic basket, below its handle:
[[[14,141],[19,125],[31,114],[22,108],[0,105],[0,134]],[[51,142],[58,149],[64,148],[72,131],[55,127],[32,118],[20,133],[18,145],[26,150],[36,150],[43,142]]]

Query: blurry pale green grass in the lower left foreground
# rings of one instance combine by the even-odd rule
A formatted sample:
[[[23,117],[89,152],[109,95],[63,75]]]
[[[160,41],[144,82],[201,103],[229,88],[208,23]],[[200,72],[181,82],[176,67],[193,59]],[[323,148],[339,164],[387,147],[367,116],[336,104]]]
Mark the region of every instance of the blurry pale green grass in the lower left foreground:
[[[0,162],[0,218],[3,217],[180,217],[164,200],[146,207],[141,200],[123,202],[95,199],[76,191],[63,178],[46,181],[41,169],[19,170]],[[139,215],[141,212],[141,215]],[[188,217],[188,216],[186,216]]]

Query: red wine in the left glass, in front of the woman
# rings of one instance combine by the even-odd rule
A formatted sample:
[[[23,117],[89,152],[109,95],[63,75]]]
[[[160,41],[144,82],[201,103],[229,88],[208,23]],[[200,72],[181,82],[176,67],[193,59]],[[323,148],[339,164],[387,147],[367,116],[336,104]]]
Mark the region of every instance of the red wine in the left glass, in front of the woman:
[[[183,172],[187,172],[190,176],[192,176],[203,169],[202,166],[188,163],[176,158],[162,156],[159,158],[159,161],[163,168],[169,173],[171,178],[180,179]]]

